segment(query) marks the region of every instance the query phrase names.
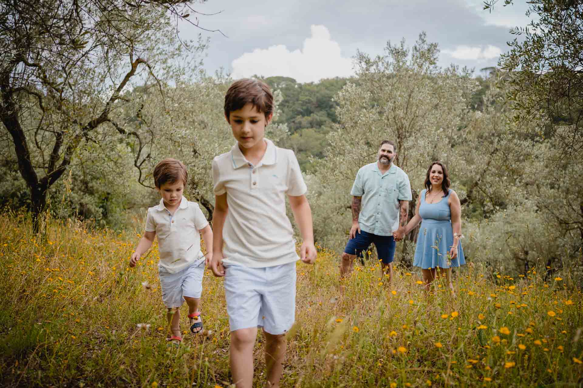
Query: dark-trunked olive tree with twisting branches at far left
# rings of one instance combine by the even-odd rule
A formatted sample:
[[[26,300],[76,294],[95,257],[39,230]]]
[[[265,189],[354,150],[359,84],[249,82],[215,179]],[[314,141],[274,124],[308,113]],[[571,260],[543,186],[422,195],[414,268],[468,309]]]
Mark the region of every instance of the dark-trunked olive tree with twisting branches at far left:
[[[190,9],[182,0],[2,2],[0,152],[26,181],[36,232],[47,191],[81,150],[101,151],[103,138],[133,137],[141,144],[134,164],[148,158],[141,133],[112,113],[136,84],[162,92],[180,73],[172,59],[205,47],[178,42],[174,23]]]

